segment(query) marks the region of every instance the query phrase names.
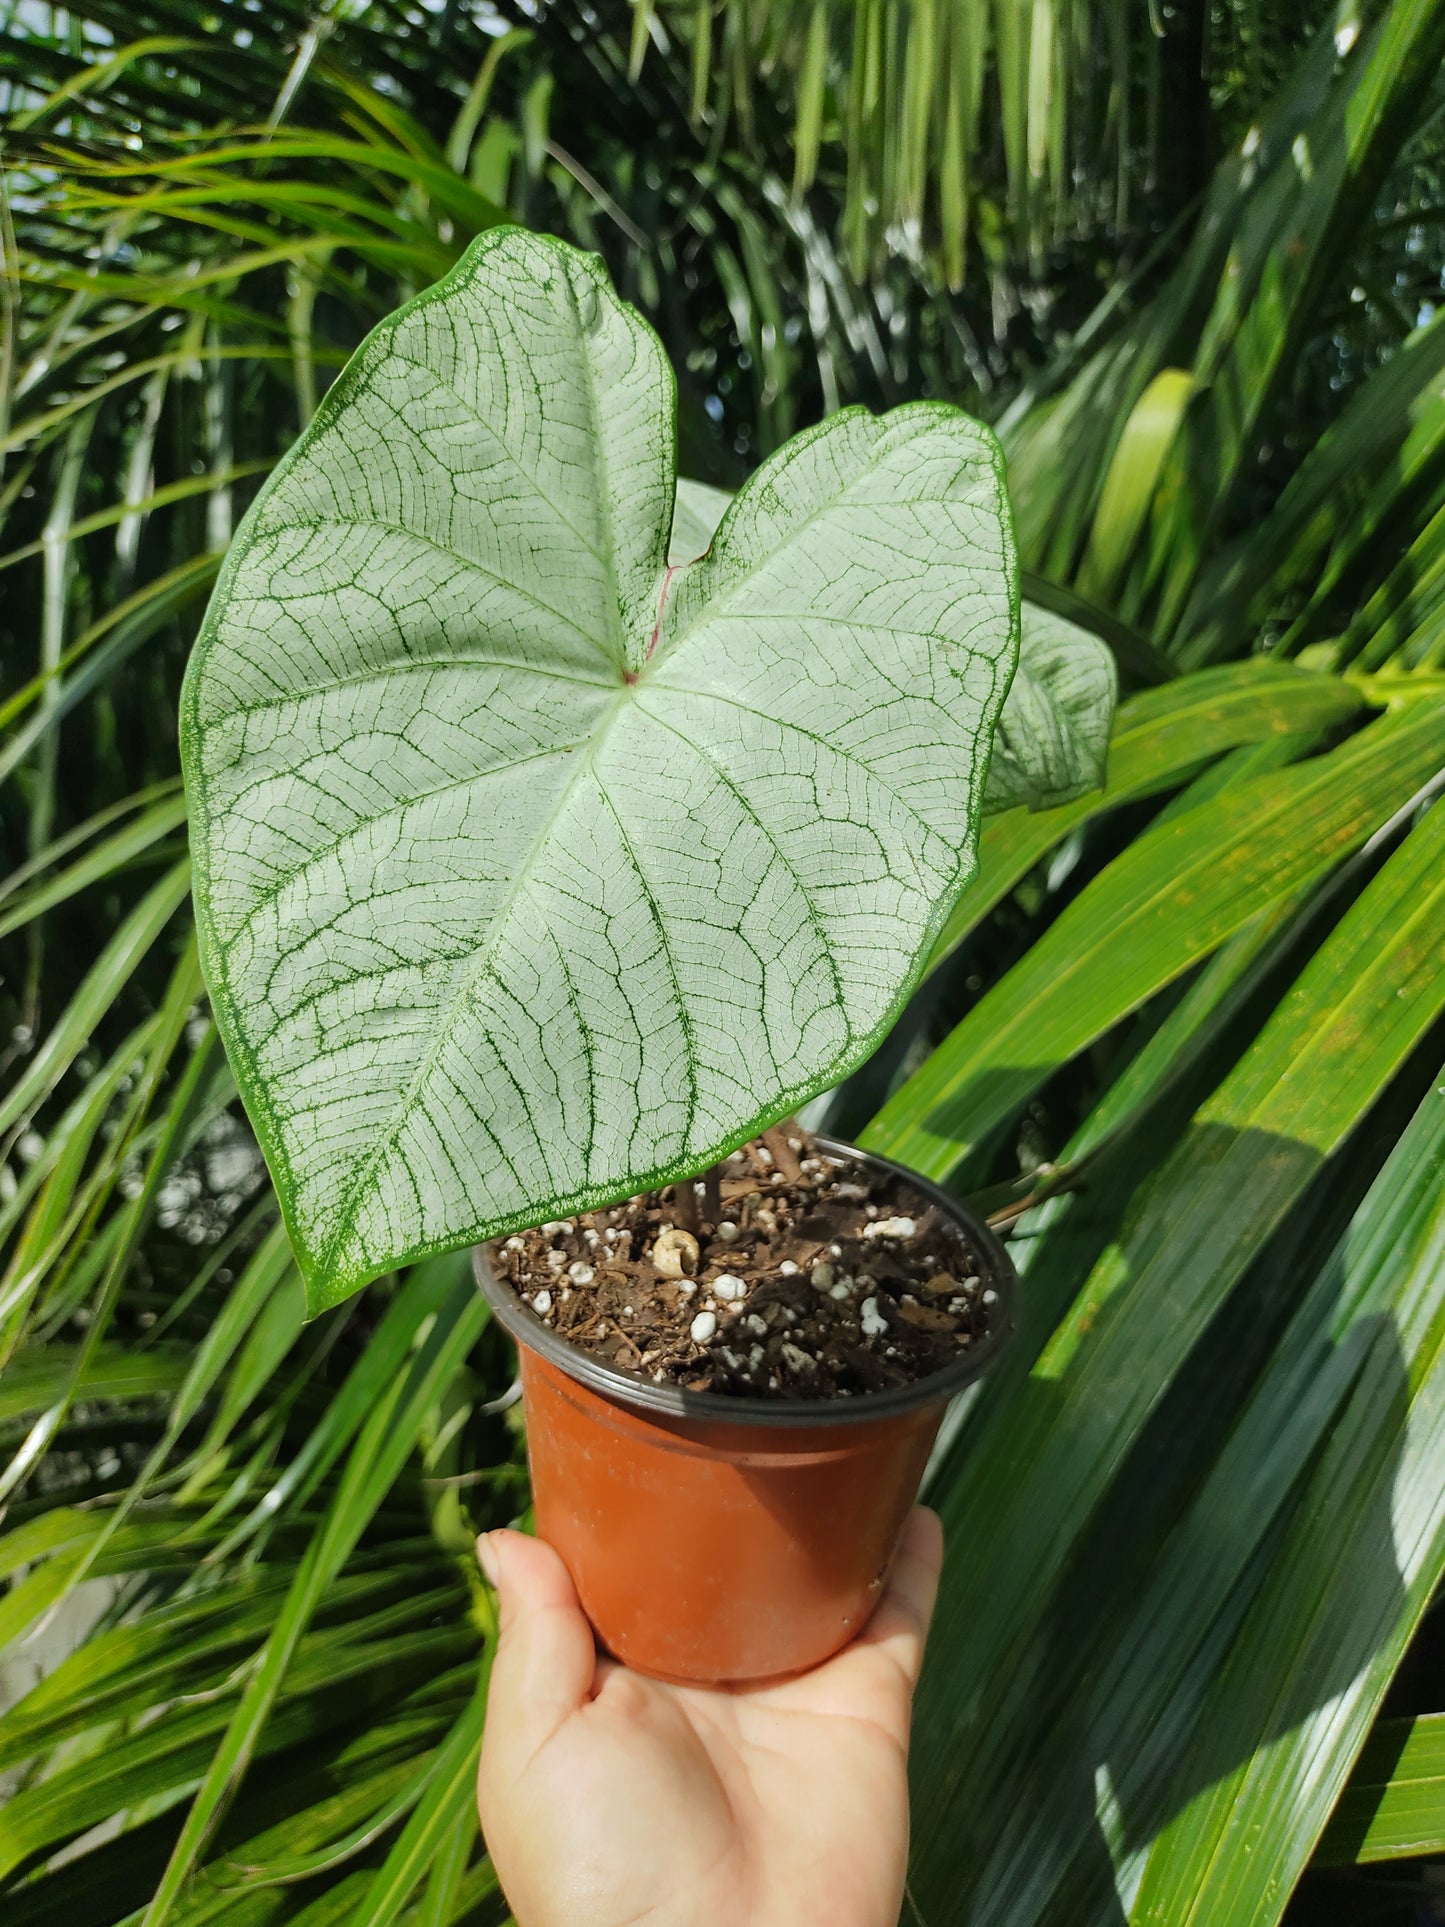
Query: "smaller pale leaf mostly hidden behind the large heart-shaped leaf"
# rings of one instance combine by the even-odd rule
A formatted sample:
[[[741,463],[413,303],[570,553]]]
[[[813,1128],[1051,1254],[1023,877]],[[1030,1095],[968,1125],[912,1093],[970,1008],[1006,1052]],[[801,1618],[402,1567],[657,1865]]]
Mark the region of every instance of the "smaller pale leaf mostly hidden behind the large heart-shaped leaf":
[[[726,489],[680,478],[669,563],[701,555],[730,501]],[[1098,790],[1117,698],[1108,644],[1025,597],[1019,665],[994,726],[985,815],[1019,805],[1056,809]]]

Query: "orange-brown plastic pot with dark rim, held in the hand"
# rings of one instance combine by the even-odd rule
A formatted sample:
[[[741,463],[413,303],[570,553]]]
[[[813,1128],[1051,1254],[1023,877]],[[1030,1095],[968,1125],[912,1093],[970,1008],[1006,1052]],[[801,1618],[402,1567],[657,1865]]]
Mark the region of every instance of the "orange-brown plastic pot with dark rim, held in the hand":
[[[474,1254],[520,1355],[538,1532],[603,1646],[655,1678],[773,1678],[846,1646],[888,1578],[944,1407],[1012,1328],[1013,1266],[985,1224],[888,1158],[819,1145],[907,1177],[967,1233],[998,1299],[988,1335],[946,1370],[830,1401],[657,1386],[559,1337]]]

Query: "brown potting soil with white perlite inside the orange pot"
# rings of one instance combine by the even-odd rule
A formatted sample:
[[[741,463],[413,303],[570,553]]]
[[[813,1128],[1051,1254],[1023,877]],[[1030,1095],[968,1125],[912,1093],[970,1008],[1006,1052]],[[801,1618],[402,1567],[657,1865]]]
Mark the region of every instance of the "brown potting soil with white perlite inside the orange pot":
[[[996,1293],[911,1185],[796,1127],[707,1181],[543,1224],[491,1262],[584,1351],[688,1391],[834,1399],[927,1378],[977,1343]]]

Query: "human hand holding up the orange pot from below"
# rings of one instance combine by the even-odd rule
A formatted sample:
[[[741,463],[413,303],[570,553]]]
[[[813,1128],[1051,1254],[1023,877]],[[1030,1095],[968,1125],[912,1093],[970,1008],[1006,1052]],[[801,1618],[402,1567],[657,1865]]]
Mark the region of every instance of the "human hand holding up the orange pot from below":
[[[894,1927],[934,1513],[852,1646],[749,1688],[599,1659],[549,1545],[489,1532],[478,1553],[501,1599],[478,1798],[518,1927]]]

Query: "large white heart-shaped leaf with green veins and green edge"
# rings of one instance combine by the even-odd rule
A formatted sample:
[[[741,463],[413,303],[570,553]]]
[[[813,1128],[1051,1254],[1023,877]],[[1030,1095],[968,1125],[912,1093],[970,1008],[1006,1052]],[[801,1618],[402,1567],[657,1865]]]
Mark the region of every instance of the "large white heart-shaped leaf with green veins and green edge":
[[[493,229],[247,516],[191,661],[202,956],[312,1305],[697,1170],[844,1075],[975,865],[996,443],[832,416],[667,567],[672,380]]]

